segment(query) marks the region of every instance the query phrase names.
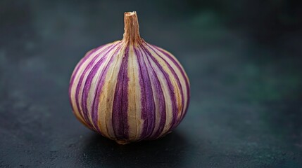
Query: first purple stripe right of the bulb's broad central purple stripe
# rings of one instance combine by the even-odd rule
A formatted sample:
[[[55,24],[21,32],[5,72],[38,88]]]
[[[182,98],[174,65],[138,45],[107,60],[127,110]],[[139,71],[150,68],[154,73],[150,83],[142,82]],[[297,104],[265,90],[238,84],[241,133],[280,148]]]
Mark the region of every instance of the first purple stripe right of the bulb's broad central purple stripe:
[[[139,63],[139,85],[141,86],[141,119],[144,120],[141,139],[149,137],[155,125],[155,103],[153,99],[153,90],[148,70],[141,50],[134,48]]]

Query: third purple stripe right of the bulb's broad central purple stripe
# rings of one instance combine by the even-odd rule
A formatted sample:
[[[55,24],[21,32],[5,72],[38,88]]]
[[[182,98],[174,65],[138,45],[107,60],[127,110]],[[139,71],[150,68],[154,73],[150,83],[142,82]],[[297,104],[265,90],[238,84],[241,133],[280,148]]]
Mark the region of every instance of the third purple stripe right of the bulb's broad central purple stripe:
[[[168,87],[170,88],[169,90],[169,94],[170,94],[170,99],[171,99],[171,105],[172,105],[172,123],[170,125],[170,127],[172,127],[172,125],[175,125],[175,123],[177,122],[177,104],[176,104],[176,97],[174,94],[174,87],[172,85],[172,81],[169,78],[168,73],[163,69],[163,67],[161,66],[161,64],[158,63],[158,60],[153,57],[153,55],[151,55],[151,52],[149,50],[147,50],[144,45],[141,45],[141,48],[144,49],[144,51],[147,53],[147,55],[150,56],[150,58],[153,60],[153,62],[158,66],[158,69],[160,69],[163,73],[163,75],[165,76],[165,80],[168,83]]]

